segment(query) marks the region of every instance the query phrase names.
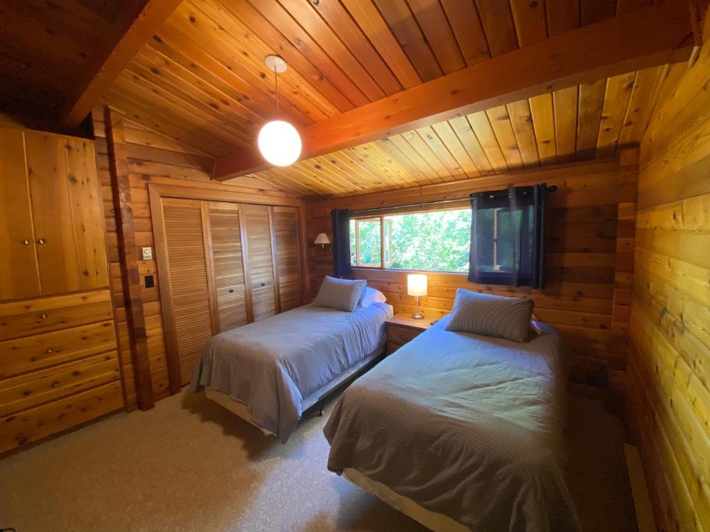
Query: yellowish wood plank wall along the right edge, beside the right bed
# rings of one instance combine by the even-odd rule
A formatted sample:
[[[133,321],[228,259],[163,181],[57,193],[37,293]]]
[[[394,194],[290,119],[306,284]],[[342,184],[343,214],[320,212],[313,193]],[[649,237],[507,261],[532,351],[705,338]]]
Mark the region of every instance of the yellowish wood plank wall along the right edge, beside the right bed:
[[[660,530],[710,522],[709,57],[667,73],[640,146],[626,419]]]

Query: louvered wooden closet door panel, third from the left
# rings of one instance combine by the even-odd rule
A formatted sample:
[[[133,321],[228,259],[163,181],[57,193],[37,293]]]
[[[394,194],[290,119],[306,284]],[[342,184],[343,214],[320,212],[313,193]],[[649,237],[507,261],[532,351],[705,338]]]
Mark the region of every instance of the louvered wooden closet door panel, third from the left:
[[[242,205],[246,228],[248,288],[251,290],[254,321],[268,318],[277,312],[269,211],[266,205]]]

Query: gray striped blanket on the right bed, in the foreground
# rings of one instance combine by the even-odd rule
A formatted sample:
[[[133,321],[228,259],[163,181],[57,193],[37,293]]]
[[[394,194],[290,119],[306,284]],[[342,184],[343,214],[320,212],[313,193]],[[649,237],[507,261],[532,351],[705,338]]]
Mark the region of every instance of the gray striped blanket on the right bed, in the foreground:
[[[447,318],[349,387],[324,428],[351,467],[474,531],[579,531],[564,478],[564,349],[554,328],[515,343]]]

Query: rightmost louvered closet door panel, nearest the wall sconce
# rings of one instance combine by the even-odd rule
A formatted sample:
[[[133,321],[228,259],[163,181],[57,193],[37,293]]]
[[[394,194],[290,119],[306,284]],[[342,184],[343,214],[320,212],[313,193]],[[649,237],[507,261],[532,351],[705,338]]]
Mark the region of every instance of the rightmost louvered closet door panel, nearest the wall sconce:
[[[298,253],[298,210],[295,207],[272,209],[280,311],[285,312],[303,304]]]

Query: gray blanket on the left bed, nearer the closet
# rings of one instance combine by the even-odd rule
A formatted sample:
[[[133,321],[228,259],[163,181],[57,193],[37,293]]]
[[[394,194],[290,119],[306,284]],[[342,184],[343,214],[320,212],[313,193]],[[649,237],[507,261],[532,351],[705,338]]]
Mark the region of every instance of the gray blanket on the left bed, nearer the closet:
[[[190,391],[229,395],[285,443],[303,399],[384,345],[390,316],[383,303],[354,312],[305,305],[224,331],[204,346]]]

